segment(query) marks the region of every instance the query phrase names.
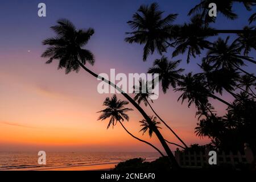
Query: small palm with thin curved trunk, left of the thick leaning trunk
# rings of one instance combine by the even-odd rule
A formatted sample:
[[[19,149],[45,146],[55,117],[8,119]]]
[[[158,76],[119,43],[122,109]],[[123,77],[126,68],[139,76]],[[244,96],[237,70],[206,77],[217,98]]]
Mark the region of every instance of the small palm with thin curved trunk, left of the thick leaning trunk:
[[[138,137],[135,137],[123,125],[123,123],[122,123],[123,121],[125,121],[125,120],[129,121],[129,115],[127,115],[126,112],[133,110],[133,109],[129,109],[129,108],[125,107],[127,104],[129,104],[129,102],[118,100],[117,96],[115,94],[112,98],[107,97],[105,99],[104,103],[103,103],[103,105],[106,106],[106,109],[98,111],[98,113],[102,113],[100,115],[100,117],[98,118],[98,120],[101,119],[101,121],[104,121],[105,119],[110,118],[107,129],[110,126],[114,127],[115,125],[117,125],[117,122],[119,122],[121,124],[121,126],[123,127],[123,129],[125,129],[125,131],[129,135],[131,135],[131,137],[133,137],[133,138],[135,138],[135,139],[137,139],[137,140],[139,140],[143,143],[146,143],[149,146],[155,148],[155,150],[157,150],[162,156],[164,156],[163,153],[158,148],[156,148],[151,143],[146,142],[145,140],[142,140],[142,139],[139,139]],[[146,120],[145,120],[145,122],[146,122]],[[154,121],[152,121],[152,123],[154,124]],[[154,131],[152,131],[152,133],[153,132]]]

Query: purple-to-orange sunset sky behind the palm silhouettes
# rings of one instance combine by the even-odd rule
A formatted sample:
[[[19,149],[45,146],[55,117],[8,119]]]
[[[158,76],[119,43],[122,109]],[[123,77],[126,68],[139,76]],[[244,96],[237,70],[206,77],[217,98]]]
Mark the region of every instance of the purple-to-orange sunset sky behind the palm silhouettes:
[[[38,17],[38,3],[47,6],[47,17]],[[0,151],[154,151],[128,135],[120,125],[106,130],[108,121],[97,121],[96,113],[104,107],[102,102],[111,94],[98,94],[98,81],[84,71],[65,75],[57,70],[57,62],[45,64],[40,55],[46,48],[42,40],[54,36],[49,27],[56,20],[67,18],[78,28],[93,27],[95,34],[87,49],[96,56],[96,63],[89,66],[97,73],[145,73],[159,55],[142,61],[143,47],[124,41],[125,32],[130,31],[127,20],[142,4],[154,1],[5,1],[0,3]],[[188,11],[199,1],[157,1],[167,13],[179,14],[175,23],[188,22]],[[238,4],[237,4],[238,5]],[[241,29],[255,12],[248,12],[242,5],[234,6],[239,14],[237,20],[218,17],[215,28]],[[166,56],[170,57],[171,51]],[[250,56],[255,57],[256,53]],[[200,71],[197,62],[201,57],[185,62],[180,67],[185,72]],[[254,72],[246,67],[246,71]],[[197,118],[195,107],[177,102],[181,93],[169,90],[160,92],[153,107],[164,118],[185,143],[207,143],[208,139],[195,136]],[[124,99],[118,95],[119,99]],[[230,100],[226,94],[222,96]],[[225,105],[212,102],[220,114]],[[133,108],[133,106],[129,105]],[[134,109],[134,108],[133,108]],[[151,110],[146,108],[148,115]],[[158,139],[138,133],[142,116],[134,110],[129,113],[130,121],[125,123],[129,131],[156,146]],[[177,142],[168,130],[163,135]],[[176,147],[171,146],[172,150]]]

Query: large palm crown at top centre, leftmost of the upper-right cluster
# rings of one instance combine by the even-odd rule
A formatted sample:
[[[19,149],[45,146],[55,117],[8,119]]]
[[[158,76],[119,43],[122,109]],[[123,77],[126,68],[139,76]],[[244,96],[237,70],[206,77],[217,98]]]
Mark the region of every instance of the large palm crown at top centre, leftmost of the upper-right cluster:
[[[171,38],[173,26],[171,23],[176,19],[177,14],[169,14],[165,18],[163,11],[159,10],[158,3],[150,6],[142,5],[137,13],[133,15],[133,20],[127,22],[133,32],[126,34],[132,35],[125,39],[129,43],[144,44],[143,61],[147,56],[154,53],[155,49],[162,54],[170,46],[167,42]]]

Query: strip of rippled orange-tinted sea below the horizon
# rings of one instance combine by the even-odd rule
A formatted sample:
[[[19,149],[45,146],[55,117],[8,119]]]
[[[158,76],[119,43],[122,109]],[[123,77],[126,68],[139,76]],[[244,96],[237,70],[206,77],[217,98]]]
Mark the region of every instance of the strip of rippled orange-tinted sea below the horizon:
[[[156,152],[46,152],[46,166],[38,164],[37,152],[0,152],[0,170],[42,169],[95,164],[114,164],[133,158],[152,161],[159,158]]]

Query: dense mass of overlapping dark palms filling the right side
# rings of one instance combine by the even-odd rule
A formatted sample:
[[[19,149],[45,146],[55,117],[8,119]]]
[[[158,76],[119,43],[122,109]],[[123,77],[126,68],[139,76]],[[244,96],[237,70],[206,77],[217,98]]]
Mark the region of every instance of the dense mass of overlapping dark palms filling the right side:
[[[172,57],[186,53],[187,63],[191,61],[191,57],[198,59],[205,52],[199,64],[201,73],[189,72],[182,75],[184,70],[176,69],[180,60],[169,61],[165,56],[155,60],[148,73],[159,73],[164,93],[172,87],[175,92],[181,92],[178,101],[182,100],[183,103],[188,100],[188,106],[195,104],[199,119],[204,117],[197,124],[197,135],[209,137],[216,147],[221,149],[240,149],[244,142],[250,142],[255,147],[254,139],[251,138],[255,137],[256,131],[253,123],[256,119],[253,114],[256,109],[253,91],[256,77],[243,67],[247,64],[255,67],[256,61],[249,53],[256,50],[256,28],[245,26],[243,30],[216,30],[210,27],[216,19],[207,15],[211,2],[216,3],[218,12],[229,19],[237,18],[237,14],[232,10],[234,3],[242,2],[249,11],[256,5],[255,1],[201,1],[189,12],[189,15],[193,15],[191,21],[179,25],[174,24],[176,14],[163,18],[163,11],[159,10],[158,4],[152,3],[150,6],[141,6],[134,14],[133,20],[127,22],[133,31],[127,33],[131,36],[125,40],[129,43],[144,44],[144,61],[155,50],[163,55],[168,48],[172,49]],[[255,14],[250,17],[249,24],[254,19]],[[154,37],[154,32],[164,34],[158,39]],[[214,38],[220,34],[236,34],[236,38],[232,43],[229,43],[230,36],[225,39],[218,37],[215,42],[209,41],[209,37]],[[233,97],[233,102],[221,98],[224,91]],[[224,117],[218,117],[209,98],[225,104],[228,113]],[[238,131],[240,141],[227,144]],[[242,131],[244,133],[241,133]]]

